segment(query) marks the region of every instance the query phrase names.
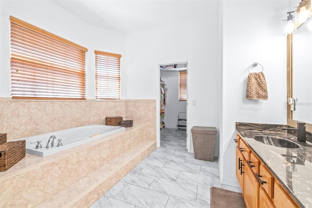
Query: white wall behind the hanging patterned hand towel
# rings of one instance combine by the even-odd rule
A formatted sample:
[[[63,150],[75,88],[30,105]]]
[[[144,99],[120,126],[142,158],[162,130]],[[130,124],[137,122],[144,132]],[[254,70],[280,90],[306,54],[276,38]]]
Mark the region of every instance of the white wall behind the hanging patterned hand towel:
[[[238,185],[234,171],[235,122],[286,124],[286,35],[282,20],[287,12],[288,1],[223,1],[219,158],[223,184]],[[245,98],[247,68],[254,62],[263,65],[269,93],[267,101]]]

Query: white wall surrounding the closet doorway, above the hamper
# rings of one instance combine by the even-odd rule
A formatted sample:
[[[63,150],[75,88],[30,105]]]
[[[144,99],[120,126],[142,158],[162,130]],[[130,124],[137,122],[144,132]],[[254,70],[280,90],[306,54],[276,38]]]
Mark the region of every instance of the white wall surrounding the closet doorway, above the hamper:
[[[190,126],[219,128],[219,1],[205,1],[207,16],[133,32],[127,35],[124,72],[127,99],[156,99],[158,65],[190,60],[188,99]],[[213,18],[212,18],[213,17]],[[218,133],[216,135],[218,138]],[[217,142],[218,143],[218,142]],[[216,148],[215,154],[218,154]]]

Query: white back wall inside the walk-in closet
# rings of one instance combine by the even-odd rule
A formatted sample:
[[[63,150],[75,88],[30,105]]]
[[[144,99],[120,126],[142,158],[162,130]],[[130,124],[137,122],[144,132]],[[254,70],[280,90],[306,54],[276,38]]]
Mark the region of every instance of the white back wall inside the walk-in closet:
[[[167,71],[167,76],[163,71],[161,79],[166,83],[167,102],[164,106],[166,128],[176,128],[176,120],[179,112],[186,112],[186,101],[179,101],[179,72]],[[167,78],[168,77],[168,78]],[[186,125],[186,123],[180,123]],[[183,128],[183,127],[181,127]]]

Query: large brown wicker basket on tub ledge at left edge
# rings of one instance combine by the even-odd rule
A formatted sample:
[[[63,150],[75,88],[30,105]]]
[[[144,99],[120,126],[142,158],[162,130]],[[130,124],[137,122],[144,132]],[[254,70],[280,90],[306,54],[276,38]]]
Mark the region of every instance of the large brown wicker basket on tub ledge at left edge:
[[[7,142],[0,145],[0,172],[8,170],[25,157],[26,141]]]

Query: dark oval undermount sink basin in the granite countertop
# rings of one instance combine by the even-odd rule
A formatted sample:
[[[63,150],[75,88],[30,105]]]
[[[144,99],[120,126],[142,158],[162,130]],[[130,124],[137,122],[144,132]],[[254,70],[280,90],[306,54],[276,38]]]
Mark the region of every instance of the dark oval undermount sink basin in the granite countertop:
[[[262,142],[263,144],[266,144],[266,145],[271,145],[271,146],[278,146],[278,147],[284,147],[284,148],[299,148],[298,144],[292,141],[289,141],[287,139],[279,138],[279,137],[259,135],[259,136],[254,136],[254,140],[258,142]]]

